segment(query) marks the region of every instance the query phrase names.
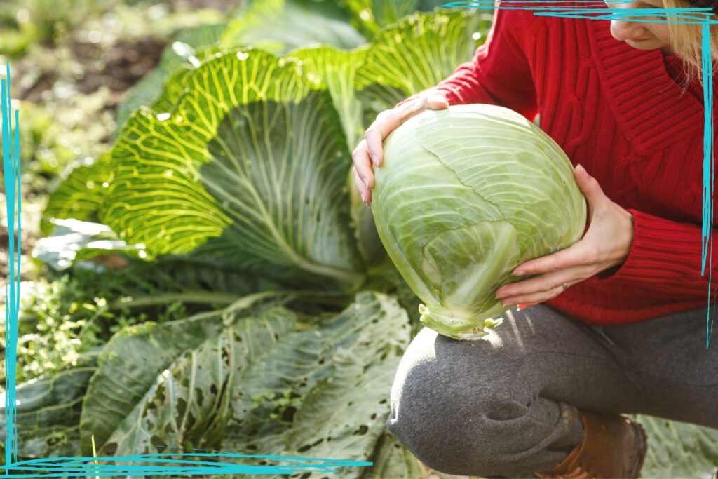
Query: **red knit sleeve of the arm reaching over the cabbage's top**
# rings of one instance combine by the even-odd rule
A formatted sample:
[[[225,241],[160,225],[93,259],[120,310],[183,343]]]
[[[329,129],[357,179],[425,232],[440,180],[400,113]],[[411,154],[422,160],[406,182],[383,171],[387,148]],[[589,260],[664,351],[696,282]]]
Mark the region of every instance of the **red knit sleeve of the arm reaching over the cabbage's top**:
[[[530,11],[495,9],[488,37],[475,50],[472,59],[460,64],[449,78],[429,90],[442,91],[449,105],[490,103],[518,111],[533,120],[538,106],[524,39],[531,22],[535,21]]]

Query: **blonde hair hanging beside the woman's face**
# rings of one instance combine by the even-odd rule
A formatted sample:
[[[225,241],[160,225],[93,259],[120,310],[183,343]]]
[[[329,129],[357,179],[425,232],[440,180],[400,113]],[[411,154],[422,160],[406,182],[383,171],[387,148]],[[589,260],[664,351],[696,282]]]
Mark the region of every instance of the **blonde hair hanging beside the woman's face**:
[[[694,5],[684,0],[663,0],[663,6],[671,8],[688,8]],[[699,16],[696,15],[696,19]],[[689,82],[698,81],[703,83],[702,74],[702,28],[701,24],[681,24],[670,22],[668,17],[668,32],[671,35],[671,48],[677,57],[683,60],[684,72]],[[712,19],[717,19],[716,15]],[[712,55],[713,71],[718,63],[718,25],[710,26],[710,45]]]

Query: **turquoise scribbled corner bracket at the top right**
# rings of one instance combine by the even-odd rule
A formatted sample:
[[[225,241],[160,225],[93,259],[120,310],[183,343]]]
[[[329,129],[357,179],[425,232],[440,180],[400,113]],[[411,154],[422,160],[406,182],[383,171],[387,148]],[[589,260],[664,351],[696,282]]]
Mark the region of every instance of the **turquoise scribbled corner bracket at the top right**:
[[[612,3],[628,4],[635,0],[615,0]],[[502,0],[499,9],[505,10],[533,10],[537,17],[559,17],[589,20],[623,20],[642,19],[642,22],[651,23],[677,23],[677,24],[700,24],[702,25],[701,53],[703,77],[703,105],[704,105],[704,127],[703,127],[703,225],[701,231],[701,275],[706,274],[708,264],[708,310],[706,315],[706,349],[709,348],[711,332],[714,319],[711,316],[711,283],[712,283],[712,253],[713,253],[713,81],[712,81],[712,57],[710,47],[710,26],[718,24],[710,18],[712,9],[709,7],[691,7],[681,9],[607,9],[607,8],[579,8],[575,6],[546,6],[547,3],[583,3],[591,5],[604,4],[603,1],[595,0],[556,0],[536,1],[540,6],[510,6],[510,4],[526,5],[531,3],[523,0]],[[605,4],[604,4],[605,5]],[[452,1],[443,4],[444,8],[464,9],[491,9],[495,7],[493,0],[478,1]],[[644,17],[662,17],[663,19],[646,19]],[[668,20],[666,17],[671,17]]]

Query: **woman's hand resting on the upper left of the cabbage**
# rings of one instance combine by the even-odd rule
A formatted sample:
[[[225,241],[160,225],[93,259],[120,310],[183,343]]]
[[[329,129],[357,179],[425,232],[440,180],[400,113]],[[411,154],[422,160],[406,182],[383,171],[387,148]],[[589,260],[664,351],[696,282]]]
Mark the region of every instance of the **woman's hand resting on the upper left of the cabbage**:
[[[446,96],[439,90],[426,90],[416,98],[399,103],[391,110],[384,110],[376,116],[373,124],[364,134],[364,139],[352,152],[354,182],[364,204],[371,204],[371,189],[374,187],[375,167],[381,167],[384,139],[398,126],[424,110],[443,110],[449,107]]]

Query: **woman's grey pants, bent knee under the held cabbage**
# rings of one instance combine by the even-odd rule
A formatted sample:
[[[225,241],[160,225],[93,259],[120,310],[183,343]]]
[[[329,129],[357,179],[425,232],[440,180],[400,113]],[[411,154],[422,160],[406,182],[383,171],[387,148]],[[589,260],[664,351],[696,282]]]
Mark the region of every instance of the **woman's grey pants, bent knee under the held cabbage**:
[[[706,314],[597,327],[537,304],[482,340],[424,328],[396,372],[388,430],[439,472],[504,475],[561,462],[584,440],[578,409],[718,428]]]

